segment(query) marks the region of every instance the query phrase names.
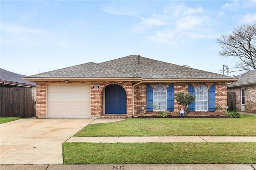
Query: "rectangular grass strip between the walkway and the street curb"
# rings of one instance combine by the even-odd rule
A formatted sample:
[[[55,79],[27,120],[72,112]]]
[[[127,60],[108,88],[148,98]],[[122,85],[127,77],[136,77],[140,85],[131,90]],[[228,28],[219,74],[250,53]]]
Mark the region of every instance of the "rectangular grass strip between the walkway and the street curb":
[[[256,142],[64,143],[64,164],[256,164]]]

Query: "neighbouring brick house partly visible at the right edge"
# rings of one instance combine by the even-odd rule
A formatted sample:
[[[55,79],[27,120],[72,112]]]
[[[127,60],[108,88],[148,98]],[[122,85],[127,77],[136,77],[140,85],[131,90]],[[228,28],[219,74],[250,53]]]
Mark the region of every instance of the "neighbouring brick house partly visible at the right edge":
[[[236,77],[238,81],[227,85],[235,93],[236,110],[256,113],[256,69]]]

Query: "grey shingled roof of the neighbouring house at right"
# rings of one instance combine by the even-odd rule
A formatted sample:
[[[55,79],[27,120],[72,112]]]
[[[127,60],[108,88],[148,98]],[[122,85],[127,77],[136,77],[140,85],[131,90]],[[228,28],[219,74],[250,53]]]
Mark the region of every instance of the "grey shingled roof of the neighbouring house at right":
[[[256,84],[256,69],[240,74],[236,77],[239,78],[238,81],[229,84],[228,87]]]

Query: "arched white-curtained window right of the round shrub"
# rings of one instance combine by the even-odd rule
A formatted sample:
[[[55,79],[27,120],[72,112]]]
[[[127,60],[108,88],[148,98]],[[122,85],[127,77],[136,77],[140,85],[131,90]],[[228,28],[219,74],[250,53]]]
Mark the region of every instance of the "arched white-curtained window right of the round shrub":
[[[208,89],[205,85],[198,85],[195,89],[195,111],[208,111]]]

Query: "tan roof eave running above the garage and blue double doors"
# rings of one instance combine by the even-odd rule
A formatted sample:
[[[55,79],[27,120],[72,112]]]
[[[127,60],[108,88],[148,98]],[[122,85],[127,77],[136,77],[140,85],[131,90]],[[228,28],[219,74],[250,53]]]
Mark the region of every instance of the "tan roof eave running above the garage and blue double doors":
[[[140,81],[141,77],[24,77],[26,81]]]

